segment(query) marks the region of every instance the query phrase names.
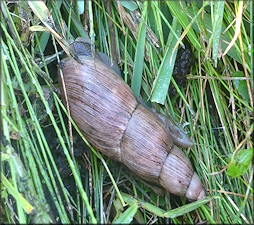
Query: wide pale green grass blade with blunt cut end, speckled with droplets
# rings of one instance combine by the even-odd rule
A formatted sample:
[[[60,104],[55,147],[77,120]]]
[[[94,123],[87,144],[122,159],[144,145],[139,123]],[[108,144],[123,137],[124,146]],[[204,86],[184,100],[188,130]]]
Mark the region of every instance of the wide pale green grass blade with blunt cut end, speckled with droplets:
[[[172,27],[174,28],[176,34],[180,36],[182,29],[176,18],[173,19]],[[177,49],[173,51],[176,42],[177,39],[172,33],[170,33],[165,56],[159,68],[158,75],[153,83],[151,96],[152,102],[157,102],[160,104],[164,104],[165,102],[177,54]]]

